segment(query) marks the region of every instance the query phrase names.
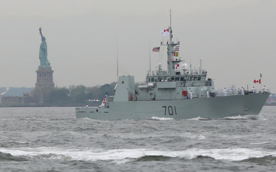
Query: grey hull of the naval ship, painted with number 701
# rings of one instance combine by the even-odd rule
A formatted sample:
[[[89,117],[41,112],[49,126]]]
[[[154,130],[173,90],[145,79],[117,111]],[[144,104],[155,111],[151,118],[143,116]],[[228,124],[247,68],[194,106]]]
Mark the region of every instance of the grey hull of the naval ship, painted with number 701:
[[[76,107],[77,118],[94,120],[144,118],[225,118],[258,115],[270,93],[162,101],[113,101],[109,107]]]

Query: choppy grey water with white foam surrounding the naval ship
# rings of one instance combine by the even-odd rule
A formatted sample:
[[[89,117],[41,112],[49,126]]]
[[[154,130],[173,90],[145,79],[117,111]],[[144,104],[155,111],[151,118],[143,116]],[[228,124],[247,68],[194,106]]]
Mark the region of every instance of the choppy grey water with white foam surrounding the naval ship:
[[[244,119],[242,119],[244,118]],[[258,118],[91,120],[0,108],[0,171],[275,171],[276,106]]]

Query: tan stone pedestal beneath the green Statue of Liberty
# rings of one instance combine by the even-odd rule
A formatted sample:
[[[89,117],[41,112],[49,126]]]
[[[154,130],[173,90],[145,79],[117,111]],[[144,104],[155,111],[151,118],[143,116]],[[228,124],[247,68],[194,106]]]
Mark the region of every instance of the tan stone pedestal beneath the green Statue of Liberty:
[[[46,96],[52,89],[55,88],[53,82],[53,70],[51,67],[38,67],[37,83],[35,83],[34,95]]]

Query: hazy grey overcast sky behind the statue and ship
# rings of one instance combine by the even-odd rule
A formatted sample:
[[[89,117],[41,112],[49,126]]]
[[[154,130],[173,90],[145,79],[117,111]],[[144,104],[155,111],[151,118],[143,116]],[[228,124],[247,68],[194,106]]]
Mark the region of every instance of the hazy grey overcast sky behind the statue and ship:
[[[275,0],[1,0],[0,87],[34,87],[40,26],[55,85],[116,81],[117,34],[119,75],[144,81],[149,44],[151,49],[160,45],[170,8],[179,56],[196,68],[202,59],[216,89],[251,88],[262,73],[262,83],[276,91]],[[152,69],[160,59],[151,51]],[[166,69],[166,51],[161,62]]]

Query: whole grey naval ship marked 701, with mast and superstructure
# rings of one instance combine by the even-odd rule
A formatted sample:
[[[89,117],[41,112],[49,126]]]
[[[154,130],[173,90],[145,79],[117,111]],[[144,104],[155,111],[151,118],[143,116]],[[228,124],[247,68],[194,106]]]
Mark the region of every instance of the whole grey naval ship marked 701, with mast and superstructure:
[[[260,113],[270,95],[269,89],[246,91],[244,95],[229,90],[226,94],[215,91],[214,81],[207,78],[206,70],[188,69],[182,58],[174,56],[179,41],[173,41],[171,22],[169,36],[166,44],[161,42],[161,46],[167,46],[167,70],[162,70],[159,63],[156,71],[146,72],[146,82],[136,87],[134,76],[120,76],[113,95],[106,95],[101,107],[76,107],[76,117],[94,120],[219,119]],[[176,69],[179,63],[183,64]]]

